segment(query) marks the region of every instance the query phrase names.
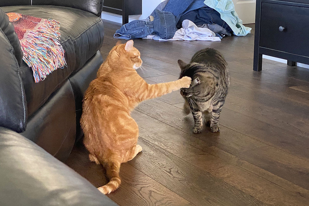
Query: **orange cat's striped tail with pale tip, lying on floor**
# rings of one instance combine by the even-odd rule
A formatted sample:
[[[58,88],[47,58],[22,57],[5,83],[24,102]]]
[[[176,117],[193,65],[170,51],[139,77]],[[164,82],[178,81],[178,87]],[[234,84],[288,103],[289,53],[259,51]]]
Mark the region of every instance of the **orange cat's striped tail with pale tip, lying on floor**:
[[[109,178],[109,182],[106,185],[99,187],[98,190],[106,195],[115,191],[121,183],[119,176],[120,163],[107,163],[104,164],[104,166],[106,167],[106,175]]]

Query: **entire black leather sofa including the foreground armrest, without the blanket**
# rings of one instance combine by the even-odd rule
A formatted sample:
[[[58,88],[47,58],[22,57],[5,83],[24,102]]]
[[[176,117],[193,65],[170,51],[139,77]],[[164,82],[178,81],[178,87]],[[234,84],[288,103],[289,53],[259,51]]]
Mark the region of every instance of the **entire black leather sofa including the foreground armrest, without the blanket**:
[[[1,206],[116,205],[59,161],[81,137],[83,94],[103,62],[102,6],[103,0],[0,1]],[[60,22],[67,66],[35,83],[7,12]]]

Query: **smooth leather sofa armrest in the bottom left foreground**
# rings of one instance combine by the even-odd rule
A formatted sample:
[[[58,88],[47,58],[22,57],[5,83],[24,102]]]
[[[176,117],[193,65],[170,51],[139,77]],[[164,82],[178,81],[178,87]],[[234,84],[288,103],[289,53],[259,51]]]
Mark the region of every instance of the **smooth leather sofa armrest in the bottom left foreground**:
[[[117,205],[44,149],[3,127],[0,168],[0,205]]]

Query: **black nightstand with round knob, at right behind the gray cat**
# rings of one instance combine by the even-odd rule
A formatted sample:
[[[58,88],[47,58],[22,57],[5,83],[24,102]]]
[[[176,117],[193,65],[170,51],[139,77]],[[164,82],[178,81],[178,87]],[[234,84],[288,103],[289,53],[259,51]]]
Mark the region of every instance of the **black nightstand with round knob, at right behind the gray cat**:
[[[309,64],[309,0],[256,0],[253,70],[263,54]]]

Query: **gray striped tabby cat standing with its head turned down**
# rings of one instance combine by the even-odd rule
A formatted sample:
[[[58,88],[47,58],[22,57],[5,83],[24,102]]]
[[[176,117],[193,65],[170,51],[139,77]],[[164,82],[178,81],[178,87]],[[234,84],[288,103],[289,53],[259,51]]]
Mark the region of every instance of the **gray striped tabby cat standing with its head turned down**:
[[[178,60],[180,77],[192,78],[189,88],[182,88],[184,111],[194,118],[194,133],[202,129],[202,115],[211,132],[219,132],[219,116],[230,85],[230,74],[223,56],[215,49],[205,48],[194,54],[189,64]]]

